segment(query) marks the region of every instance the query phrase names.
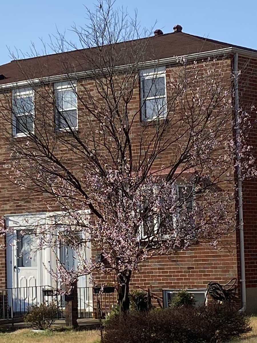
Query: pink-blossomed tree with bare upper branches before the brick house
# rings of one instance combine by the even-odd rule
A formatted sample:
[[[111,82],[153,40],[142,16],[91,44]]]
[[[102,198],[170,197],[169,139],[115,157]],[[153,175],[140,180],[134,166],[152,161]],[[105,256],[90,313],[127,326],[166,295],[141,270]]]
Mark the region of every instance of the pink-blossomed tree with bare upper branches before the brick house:
[[[234,119],[228,60],[178,59],[166,70],[164,96],[160,63],[142,73],[140,63],[155,60],[151,39],[138,40],[136,20],[110,1],[99,4],[95,13],[88,11],[88,26],[73,28],[88,49],[63,54],[66,45],[75,46],[62,35],[54,46],[69,99],[59,93],[62,84],[43,77],[47,59],[36,58],[42,74],[28,81],[36,106],[33,129],[28,98],[22,103],[14,96],[12,106],[5,94],[0,115],[7,124],[14,117],[14,127],[26,133],[10,139],[7,125],[9,177],[32,194],[46,194],[48,210],[62,213],[50,225],[35,225],[40,248],[69,247],[78,261],[76,268],[60,261],[55,269],[46,267],[65,285],[93,271],[113,272],[120,311],[126,312],[131,276],[141,262],[200,241],[216,245],[235,229],[236,168],[242,177],[256,171],[246,144],[249,116],[241,111]],[[85,60],[90,75],[81,79]],[[30,65],[16,63],[32,80]],[[74,95],[78,125],[72,112],[67,116],[72,106],[63,105],[71,105]],[[85,258],[89,244],[107,263]]]

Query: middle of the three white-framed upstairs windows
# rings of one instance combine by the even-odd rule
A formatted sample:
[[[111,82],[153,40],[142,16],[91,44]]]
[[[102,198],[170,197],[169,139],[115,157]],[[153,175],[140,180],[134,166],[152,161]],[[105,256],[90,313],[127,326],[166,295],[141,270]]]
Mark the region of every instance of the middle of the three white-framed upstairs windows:
[[[76,81],[63,81],[54,84],[56,98],[57,130],[78,128],[78,108]]]

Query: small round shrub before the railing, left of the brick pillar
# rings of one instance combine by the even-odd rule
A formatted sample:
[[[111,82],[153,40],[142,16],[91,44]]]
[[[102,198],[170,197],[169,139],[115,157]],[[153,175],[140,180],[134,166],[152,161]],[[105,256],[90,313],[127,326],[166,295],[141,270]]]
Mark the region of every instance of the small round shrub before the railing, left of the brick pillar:
[[[57,313],[58,308],[55,302],[33,305],[29,307],[29,313],[25,316],[24,321],[30,323],[33,328],[47,330],[54,323]]]

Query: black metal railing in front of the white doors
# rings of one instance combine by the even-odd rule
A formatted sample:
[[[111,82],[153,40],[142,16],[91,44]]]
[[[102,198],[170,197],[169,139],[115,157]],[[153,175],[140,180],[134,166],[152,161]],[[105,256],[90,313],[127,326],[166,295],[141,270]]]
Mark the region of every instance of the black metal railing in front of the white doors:
[[[116,302],[115,293],[95,294],[93,287],[77,287],[78,317],[97,318],[97,300],[101,304],[101,316],[111,311]],[[66,298],[67,300],[67,298]],[[56,319],[65,318],[65,296],[51,286],[29,286],[0,289],[0,319],[23,318],[33,305],[57,305]]]

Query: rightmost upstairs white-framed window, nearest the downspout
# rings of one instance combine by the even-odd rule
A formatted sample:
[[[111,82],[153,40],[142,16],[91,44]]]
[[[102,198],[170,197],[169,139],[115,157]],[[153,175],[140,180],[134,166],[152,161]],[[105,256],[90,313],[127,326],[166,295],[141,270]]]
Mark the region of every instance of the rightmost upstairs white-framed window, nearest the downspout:
[[[140,72],[142,120],[164,118],[167,114],[165,67]]]

